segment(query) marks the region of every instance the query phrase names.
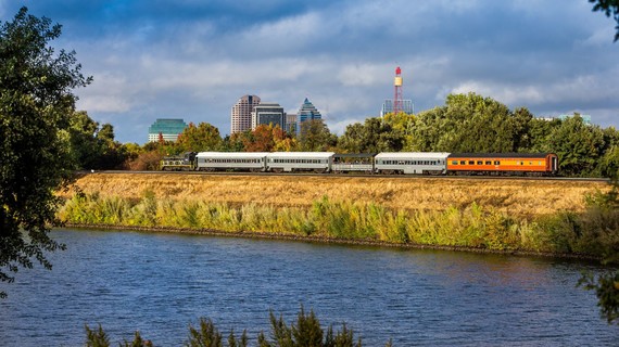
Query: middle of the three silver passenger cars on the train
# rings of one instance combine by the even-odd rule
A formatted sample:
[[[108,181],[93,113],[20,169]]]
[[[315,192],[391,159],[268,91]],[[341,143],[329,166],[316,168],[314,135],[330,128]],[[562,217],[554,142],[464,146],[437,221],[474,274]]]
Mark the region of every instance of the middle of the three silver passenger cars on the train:
[[[331,171],[333,152],[274,152],[267,154],[266,169],[274,172]]]

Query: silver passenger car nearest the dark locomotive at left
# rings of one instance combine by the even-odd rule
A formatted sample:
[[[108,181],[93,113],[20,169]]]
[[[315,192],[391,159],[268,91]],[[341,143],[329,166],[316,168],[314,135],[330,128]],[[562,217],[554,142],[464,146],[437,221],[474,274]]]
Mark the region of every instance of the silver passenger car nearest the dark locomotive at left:
[[[197,169],[262,172],[266,170],[267,154],[266,152],[200,152],[195,155]]]

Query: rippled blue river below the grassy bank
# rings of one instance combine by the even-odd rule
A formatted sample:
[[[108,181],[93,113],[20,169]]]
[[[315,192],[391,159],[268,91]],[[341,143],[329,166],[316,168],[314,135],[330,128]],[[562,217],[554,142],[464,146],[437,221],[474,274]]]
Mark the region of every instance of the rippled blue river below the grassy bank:
[[[113,345],[139,330],[181,346],[210,318],[227,336],[267,336],[268,312],[290,324],[301,306],[365,346],[616,346],[588,264],[563,259],[289,241],[54,230],[67,245],[53,270],[1,283],[1,346],[80,346],[85,324]]]

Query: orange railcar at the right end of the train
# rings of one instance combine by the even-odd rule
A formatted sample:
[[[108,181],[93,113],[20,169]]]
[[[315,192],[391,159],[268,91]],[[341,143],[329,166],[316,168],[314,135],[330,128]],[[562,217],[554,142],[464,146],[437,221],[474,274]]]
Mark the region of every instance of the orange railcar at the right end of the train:
[[[460,175],[539,175],[558,171],[554,153],[452,153],[447,157],[447,172]]]

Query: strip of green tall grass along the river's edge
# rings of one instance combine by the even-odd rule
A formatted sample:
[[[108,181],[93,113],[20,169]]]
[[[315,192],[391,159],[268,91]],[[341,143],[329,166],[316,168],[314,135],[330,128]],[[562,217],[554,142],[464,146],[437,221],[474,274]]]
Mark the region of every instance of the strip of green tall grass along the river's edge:
[[[380,204],[314,201],[311,207],[195,200],[73,196],[59,211],[68,223],[276,233],[395,244],[530,250],[604,256],[619,250],[619,213],[591,198],[583,214],[557,213],[533,220],[472,203],[443,210],[390,209]]]

